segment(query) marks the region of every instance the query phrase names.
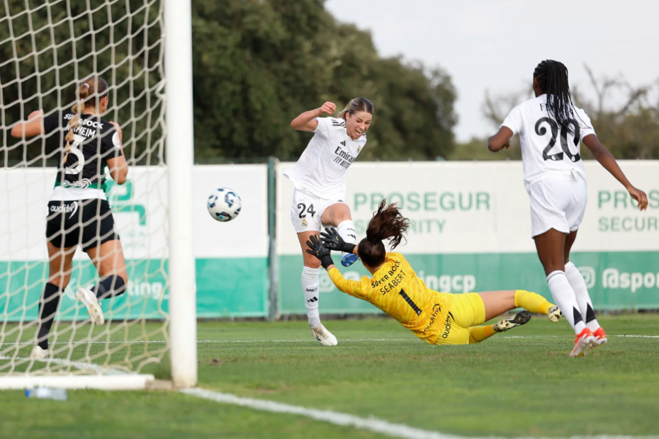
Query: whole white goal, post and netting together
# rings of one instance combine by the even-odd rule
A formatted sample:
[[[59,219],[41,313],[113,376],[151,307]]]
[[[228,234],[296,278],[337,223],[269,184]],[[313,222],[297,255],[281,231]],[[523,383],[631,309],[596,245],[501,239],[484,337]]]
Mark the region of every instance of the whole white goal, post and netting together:
[[[0,389],[196,385],[191,21],[191,0],[0,4]],[[100,276],[78,248],[62,269],[70,281],[57,292],[45,357],[35,357],[49,321],[47,203],[66,158],[60,128],[33,137],[12,128],[40,109],[61,120],[91,76],[108,82],[102,118],[121,125],[130,169],[123,185],[108,177],[102,187],[128,284],[98,295],[106,321],[91,324],[74,291]]]

